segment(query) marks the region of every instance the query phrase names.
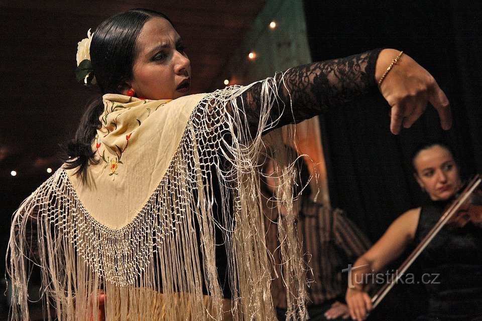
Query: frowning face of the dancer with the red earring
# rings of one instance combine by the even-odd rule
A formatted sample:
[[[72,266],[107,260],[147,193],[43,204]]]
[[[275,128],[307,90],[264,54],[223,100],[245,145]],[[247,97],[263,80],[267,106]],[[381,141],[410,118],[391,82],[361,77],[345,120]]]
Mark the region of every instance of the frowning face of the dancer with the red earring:
[[[176,99],[189,94],[191,63],[181,37],[164,18],[148,20],[137,39],[138,56],[133,80],[127,84],[136,96],[146,99]],[[126,88],[124,94],[131,88]]]

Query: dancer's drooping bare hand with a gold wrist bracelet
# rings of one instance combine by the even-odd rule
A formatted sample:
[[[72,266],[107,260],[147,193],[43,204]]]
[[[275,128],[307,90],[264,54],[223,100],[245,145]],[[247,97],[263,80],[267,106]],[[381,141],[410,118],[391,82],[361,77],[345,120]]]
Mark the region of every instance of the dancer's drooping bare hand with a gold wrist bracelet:
[[[400,51],[384,49],[377,60],[375,77],[377,82]],[[390,130],[400,132],[403,125],[410,127],[425,111],[430,102],[438,112],[443,129],[452,125],[449,102],[435,79],[415,60],[405,53],[385,77],[380,91],[392,106]]]

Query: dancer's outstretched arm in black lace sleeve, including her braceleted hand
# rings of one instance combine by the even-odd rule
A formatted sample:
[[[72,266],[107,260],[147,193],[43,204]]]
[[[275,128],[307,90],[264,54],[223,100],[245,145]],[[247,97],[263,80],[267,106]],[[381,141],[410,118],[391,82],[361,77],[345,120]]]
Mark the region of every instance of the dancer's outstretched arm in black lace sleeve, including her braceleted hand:
[[[359,95],[378,89],[378,80],[399,51],[374,50],[346,58],[316,62],[293,67],[275,76],[273,86],[283,103],[270,112],[274,127],[299,122],[334,108]],[[244,93],[246,117],[255,132],[259,123],[263,82],[256,83]],[[428,102],[440,115],[442,127],[451,124],[448,99],[433,77],[409,56],[403,54],[386,75],[380,91],[392,107],[391,130],[409,127],[420,117]]]

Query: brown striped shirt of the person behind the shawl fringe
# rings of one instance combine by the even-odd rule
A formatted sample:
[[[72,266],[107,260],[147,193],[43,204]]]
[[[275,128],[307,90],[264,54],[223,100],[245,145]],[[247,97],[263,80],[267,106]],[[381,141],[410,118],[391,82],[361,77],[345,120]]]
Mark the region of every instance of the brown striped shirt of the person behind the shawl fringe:
[[[286,290],[279,268],[278,227],[275,224],[279,211],[274,205],[267,201],[264,208],[267,246],[274,255],[278,273],[273,275],[272,294],[274,304],[286,308]],[[323,304],[344,296],[347,273],[341,270],[366,252],[371,243],[342,210],[331,210],[306,199],[300,207],[297,228],[305,261],[308,262],[307,278],[312,281],[307,289],[308,304]]]

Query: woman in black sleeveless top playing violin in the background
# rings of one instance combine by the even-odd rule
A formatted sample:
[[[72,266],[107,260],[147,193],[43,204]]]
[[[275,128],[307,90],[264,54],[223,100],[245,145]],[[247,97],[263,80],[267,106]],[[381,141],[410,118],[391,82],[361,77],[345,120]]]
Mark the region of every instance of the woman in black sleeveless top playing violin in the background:
[[[381,271],[411,243],[418,244],[438,222],[462,187],[459,166],[443,143],[413,153],[414,176],[430,198],[397,218],[375,245],[353,264],[346,302],[353,320],[372,309],[367,274]],[[419,257],[428,295],[427,310],[417,320],[482,320],[482,228],[467,222],[444,226]]]

